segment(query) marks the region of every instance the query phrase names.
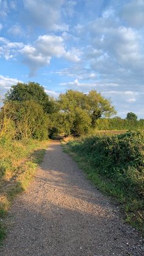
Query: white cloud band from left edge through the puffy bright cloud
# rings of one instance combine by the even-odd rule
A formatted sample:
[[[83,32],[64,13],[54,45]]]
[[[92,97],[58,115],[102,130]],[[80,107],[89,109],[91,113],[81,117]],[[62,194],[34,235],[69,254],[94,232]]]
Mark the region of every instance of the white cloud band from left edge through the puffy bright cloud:
[[[81,51],[76,48],[67,49],[63,38],[57,35],[40,35],[32,45],[21,42],[10,42],[0,37],[0,57],[14,59],[18,54],[30,68],[30,76],[34,76],[38,68],[50,63],[52,57],[63,57],[71,62],[79,62]]]

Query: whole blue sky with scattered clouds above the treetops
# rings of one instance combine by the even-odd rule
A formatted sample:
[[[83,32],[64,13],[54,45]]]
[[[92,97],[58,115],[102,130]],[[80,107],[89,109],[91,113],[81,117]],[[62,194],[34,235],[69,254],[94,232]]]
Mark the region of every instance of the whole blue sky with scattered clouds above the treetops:
[[[95,89],[144,118],[144,0],[0,0],[0,93]]]

